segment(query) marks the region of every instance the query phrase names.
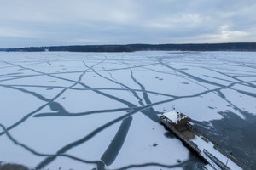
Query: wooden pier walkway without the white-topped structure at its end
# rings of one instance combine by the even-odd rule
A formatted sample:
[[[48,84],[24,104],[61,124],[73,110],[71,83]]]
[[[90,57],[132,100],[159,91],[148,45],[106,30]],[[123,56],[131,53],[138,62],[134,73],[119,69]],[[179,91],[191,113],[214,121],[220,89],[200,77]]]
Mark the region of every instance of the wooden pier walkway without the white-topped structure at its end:
[[[238,167],[237,169],[250,170],[248,167],[242,165],[240,161],[236,160],[235,157],[218,149],[218,144],[214,140],[201,133],[189,122],[177,124],[170,121],[166,116],[160,116],[160,122],[162,122],[168,129],[170,129],[178,139],[181,139],[184,144],[187,144],[192,150],[195,150],[196,153],[198,153],[203,159],[209,162],[212,169],[232,170],[234,168],[230,167]],[[202,142],[200,144],[212,144],[212,150],[215,155],[222,157],[227,161],[224,162],[219,160],[217,156],[212,155],[212,153],[203,149],[203,147],[195,144],[195,139],[201,139]]]

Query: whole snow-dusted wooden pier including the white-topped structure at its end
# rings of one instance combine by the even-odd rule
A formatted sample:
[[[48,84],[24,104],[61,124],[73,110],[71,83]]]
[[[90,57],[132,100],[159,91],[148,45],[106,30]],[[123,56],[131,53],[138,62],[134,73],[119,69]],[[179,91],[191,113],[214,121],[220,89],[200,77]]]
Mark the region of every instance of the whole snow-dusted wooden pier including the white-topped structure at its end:
[[[209,164],[207,170],[249,170],[235,157],[218,149],[218,144],[202,134],[189,123],[191,119],[179,111],[166,112],[160,116],[160,121],[181,139],[184,144],[195,150]]]

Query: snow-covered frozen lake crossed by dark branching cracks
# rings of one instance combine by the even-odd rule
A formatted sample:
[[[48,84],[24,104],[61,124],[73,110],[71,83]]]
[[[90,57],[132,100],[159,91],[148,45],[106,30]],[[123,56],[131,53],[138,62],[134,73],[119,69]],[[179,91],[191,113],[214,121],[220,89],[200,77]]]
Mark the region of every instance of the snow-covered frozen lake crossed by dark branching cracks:
[[[0,53],[0,161],[42,169],[201,169],[172,107],[256,169],[256,53]]]

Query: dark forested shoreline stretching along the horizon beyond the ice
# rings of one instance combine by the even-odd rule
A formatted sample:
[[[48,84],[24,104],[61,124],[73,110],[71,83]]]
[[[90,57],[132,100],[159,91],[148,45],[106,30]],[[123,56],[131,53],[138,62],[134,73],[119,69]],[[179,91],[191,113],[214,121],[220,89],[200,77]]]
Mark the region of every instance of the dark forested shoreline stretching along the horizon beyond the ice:
[[[76,45],[30,48],[5,48],[0,51],[69,51],[69,52],[134,52],[134,51],[256,51],[256,42],[191,43],[191,44],[128,44]]]

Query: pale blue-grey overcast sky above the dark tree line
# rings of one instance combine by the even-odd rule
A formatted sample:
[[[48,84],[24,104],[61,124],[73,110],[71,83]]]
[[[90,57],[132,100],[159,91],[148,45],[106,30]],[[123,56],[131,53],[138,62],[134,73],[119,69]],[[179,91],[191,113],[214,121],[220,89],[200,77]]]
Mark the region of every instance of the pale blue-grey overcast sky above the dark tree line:
[[[255,0],[0,0],[0,48],[256,42]]]

